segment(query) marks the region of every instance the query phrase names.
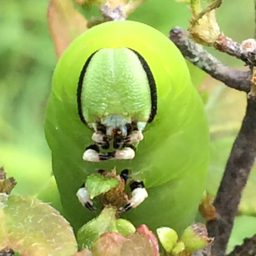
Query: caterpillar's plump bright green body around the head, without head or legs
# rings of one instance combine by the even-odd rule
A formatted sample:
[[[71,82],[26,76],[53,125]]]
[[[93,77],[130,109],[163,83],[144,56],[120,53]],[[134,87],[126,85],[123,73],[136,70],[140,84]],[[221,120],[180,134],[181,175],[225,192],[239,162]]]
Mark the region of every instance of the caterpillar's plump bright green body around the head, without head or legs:
[[[145,58],[156,81],[158,109],[134,159],[90,163],[82,155],[92,143],[93,131],[79,118],[76,93],[85,61],[105,47],[129,47]],[[45,132],[64,214],[75,230],[95,216],[76,198],[78,188],[95,168],[116,167],[119,173],[130,168],[134,178],[144,181],[148,198],[121,216],[134,225],[169,226],[181,232],[193,222],[205,186],[208,125],[185,60],[157,30],[141,23],[114,21],[93,27],[74,40],[54,72]]]

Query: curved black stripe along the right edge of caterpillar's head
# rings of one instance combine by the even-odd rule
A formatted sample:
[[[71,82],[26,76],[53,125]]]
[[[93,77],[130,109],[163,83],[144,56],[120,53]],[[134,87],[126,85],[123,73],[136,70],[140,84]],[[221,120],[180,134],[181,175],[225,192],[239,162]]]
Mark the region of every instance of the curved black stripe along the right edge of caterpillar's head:
[[[128,48],[128,49],[133,51],[137,55],[138,59],[141,62],[141,65],[142,65],[144,71],[147,74],[147,80],[148,80],[148,84],[149,84],[149,87],[150,87],[150,94],[151,94],[151,112],[150,112],[150,116],[149,116],[149,119],[147,120],[147,122],[151,123],[154,120],[156,112],[157,112],[156,82],[155,82],[155,79],[153,77],[151,69],[148,66],[146,60],[137,51],[135,51],[131,48]]]

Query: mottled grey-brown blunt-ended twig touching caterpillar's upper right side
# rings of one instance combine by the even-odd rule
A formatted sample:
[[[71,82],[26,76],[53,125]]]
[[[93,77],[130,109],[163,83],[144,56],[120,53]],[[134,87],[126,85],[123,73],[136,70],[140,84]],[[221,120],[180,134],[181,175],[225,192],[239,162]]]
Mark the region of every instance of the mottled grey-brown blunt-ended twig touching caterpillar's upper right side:
[[[240,71],[228,67],[207,52],[201,45],[188,39],[186,31],[180,27],[174,27],[170,31],[169,38],[187,60],[207,72],[213,78],[231,88],[245,92],[250,91],[251,83],[248,80],[251,75],[250,71]]]

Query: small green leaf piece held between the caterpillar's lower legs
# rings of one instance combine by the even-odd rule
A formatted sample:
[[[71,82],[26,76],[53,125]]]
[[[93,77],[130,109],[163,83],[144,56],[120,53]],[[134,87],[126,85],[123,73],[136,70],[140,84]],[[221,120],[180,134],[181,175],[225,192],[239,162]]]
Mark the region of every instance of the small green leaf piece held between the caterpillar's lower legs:
[[[115,178],[105,177],[99,173],[93,173],[86,179],[85,187],[90,192],[91,199],[105,193],[119,184]]]

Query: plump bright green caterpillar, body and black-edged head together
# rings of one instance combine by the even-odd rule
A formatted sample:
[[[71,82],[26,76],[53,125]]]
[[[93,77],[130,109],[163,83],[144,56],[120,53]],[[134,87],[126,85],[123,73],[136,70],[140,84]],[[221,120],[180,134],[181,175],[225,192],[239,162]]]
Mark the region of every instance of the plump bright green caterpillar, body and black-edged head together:
[[[148,191],[122,218],[178,232],[193,222],[209,160],[208,124],[185,60],[159,31],[113,21],[75,39],[54,71],[45,133],[75,230],[95,216],[77,190],[95,169],[113,167],[130,169]]]

